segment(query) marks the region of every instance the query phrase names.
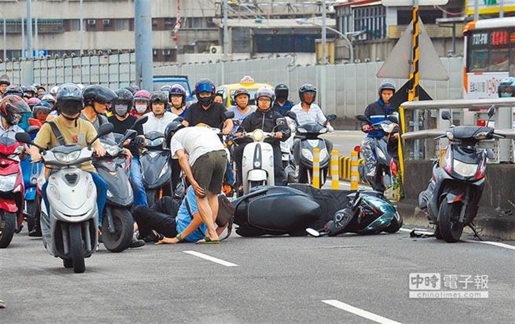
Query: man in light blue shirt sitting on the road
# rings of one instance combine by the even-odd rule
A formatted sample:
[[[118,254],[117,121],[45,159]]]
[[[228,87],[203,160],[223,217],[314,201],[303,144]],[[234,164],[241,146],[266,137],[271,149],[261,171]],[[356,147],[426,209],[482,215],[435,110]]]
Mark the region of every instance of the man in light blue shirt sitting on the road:
[[[188,187],[180,206],[171,197],[165,196],[151,208],[136,207],[133,215],[140,231],[138,238],[145,238],[145,241],[154,241],[158,244],[199,242],[207,233],[192,186]],[[220,235],[224,229],[225,226],[219,226],[216,229],[217,234]],[[216,244],[213,242],[219,243],[207,241],[202,244]]]

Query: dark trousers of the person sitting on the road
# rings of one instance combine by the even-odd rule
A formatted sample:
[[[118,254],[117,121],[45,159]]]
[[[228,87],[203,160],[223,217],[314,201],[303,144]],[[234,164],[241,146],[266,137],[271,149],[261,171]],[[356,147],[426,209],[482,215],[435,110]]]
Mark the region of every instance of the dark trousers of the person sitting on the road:
[[[179,204],[171,197],[164,196],[152,207],[138,206],[134,209],[133,217],[138,224],[140,237],[147,237],[152,230],[173,238],[177,235],[175,218],[179,211]]]

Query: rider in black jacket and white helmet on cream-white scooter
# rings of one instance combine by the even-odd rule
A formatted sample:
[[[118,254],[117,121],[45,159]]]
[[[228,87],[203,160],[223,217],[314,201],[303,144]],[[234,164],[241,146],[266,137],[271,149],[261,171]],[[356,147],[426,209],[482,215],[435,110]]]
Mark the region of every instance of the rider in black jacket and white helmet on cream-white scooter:
[[[276,186],[281,186],[286,185],[286,175],[284,173],[284,167],[281,160],[282,153],[279,141],[287,140],[291,135],[291,131],[287,124],[276,128],[276,120],[283,116],[278,112],[271,110],[273,99],[275,99],[275,95],[271,89],[265,87],[258,89],[258,92],[255,94],[255,101],[258,105],[258,109],[243,120],[235,135],[236,137],[240,137],[243,135],[243,131],[250,133],[256,129],[261,129],[264,132],[276,131],[275,138],[266,139],[265,141],[269,142],[273,148],[274,183]],[[234,158],[238,169],[238,184],[240,185],[242,184],[243,179],[242,159],[245,145],[246,143],[238,145],[234,150]]]

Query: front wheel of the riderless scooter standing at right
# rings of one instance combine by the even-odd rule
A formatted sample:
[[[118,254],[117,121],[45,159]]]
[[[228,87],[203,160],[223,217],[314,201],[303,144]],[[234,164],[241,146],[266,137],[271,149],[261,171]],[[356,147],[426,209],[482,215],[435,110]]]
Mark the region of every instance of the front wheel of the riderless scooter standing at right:
[[[461,209],[459,204],[449,204],[446,198],[438,210],[438,229],[442,239],[449,243],[458,242],[463,233],[463,223],[457,221]]]

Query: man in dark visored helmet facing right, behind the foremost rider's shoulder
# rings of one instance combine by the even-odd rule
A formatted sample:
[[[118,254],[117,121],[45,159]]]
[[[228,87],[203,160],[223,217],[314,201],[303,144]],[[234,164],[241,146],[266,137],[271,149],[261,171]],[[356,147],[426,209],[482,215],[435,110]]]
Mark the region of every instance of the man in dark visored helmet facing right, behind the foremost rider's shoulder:
[[[95,84],[85,87],[82,95],[84,98],[84,109],[80,114],[80,118],[91,122],[98,132],[100,125],[109,122],[106,112],[111,107],[114,99],[116,99],[116,94],[105,86]],[[114,140],[112,133],[103,137]]]

